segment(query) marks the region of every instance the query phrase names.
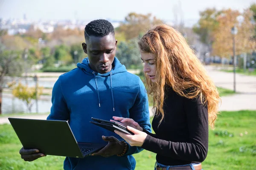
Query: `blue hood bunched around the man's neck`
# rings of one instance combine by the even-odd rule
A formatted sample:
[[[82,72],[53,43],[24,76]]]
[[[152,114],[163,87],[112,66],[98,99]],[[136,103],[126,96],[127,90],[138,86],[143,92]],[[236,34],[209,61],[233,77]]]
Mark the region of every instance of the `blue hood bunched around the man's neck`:
[[[89,59],[88,57],[84,58],[81,63],[77,63],[76,65],[78,68],[81,68],[86,74],[92,75],[95,73],[95,75],[99,75],[101,77],[107,77],[110,74],[116,74],[116,73],[122,73],[127,71],[125,68],[125,65],[122,65],[119,60],[115,57],[114,61],[112,63],[112,69],[108,73],[100,74],[94,70],[92,70],[89,66]]]

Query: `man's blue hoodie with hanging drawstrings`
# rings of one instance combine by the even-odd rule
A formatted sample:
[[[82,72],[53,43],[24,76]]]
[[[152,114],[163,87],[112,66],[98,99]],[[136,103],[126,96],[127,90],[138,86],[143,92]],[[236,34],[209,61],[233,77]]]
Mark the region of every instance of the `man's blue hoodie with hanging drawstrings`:
[[[116,133],[90,123],[91,117],[110,120],[112,116],[129,117],[145,130],[151,131],[148,97],[140,77],[128,73],[115,57],[110,72],[100,74],[89,67],[89,60],[72,71],[62,74],[52,89],[50,120],[68,120],[78,142],[106,143],[104,136]],[[86,129],[86,130],[85,130]],[[136,161],[132,154],[141,147],[131,147],[125,156],[88,156],[83,159],[66,157],[64,170],[134,170]]]

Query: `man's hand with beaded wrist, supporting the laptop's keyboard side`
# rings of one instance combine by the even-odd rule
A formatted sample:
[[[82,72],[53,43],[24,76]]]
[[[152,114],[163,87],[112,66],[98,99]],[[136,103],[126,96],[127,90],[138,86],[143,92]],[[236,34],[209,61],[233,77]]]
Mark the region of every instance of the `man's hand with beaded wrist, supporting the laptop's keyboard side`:
[[[117,154],[121,154],[125,149],[125,144],[120,142],[114,136],[102,136],[104,141],[108,141],[108,144],[99,150],[96,153],[93,153],[92,156],[104,156],[109,157]]]

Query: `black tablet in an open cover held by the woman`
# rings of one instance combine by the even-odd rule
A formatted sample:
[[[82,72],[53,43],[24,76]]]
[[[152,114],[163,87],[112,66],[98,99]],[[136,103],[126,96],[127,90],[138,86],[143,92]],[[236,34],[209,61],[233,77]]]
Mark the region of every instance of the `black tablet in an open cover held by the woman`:
[[[134,133],[132,133],[130,130],[128,130],[125,126],[120,125],[116,122],[111,122],[111,121],[103,120],[103,119],[97,119],[97,118],[93,118],[93,117],[92,117],[92,120],[95,122],[90,121],[90,123],[93,123],[94,125],[103,127],[112,132],[114,132],[114,130],[118,130],[118,131],[128,134],[128,135],[134,135]]]

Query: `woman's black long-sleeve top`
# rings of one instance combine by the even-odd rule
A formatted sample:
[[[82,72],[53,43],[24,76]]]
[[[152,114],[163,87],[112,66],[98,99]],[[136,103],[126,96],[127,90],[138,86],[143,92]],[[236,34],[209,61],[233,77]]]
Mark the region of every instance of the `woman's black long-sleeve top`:
[[[142,147],[157,153],[157,162],[182,165],[204,161],[208,152],[208,111],[200,98],[187,99],[172,88],[165,91],[164,119],[154,116],[152,127]]]

